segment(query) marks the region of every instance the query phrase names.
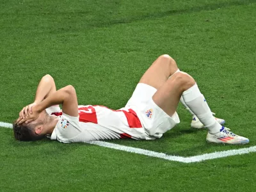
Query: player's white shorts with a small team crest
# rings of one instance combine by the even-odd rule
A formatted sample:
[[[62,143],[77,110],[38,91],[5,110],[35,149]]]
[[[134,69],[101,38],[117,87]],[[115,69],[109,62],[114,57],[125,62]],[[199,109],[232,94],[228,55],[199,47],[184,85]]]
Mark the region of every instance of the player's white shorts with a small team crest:
[[[179,124],[180,119],[176,112],[171,117],[157,106],[152,99],[156,91],[156,88],[148,84],[137,84],[125,107],[134,109],[148,136],[161,138],[164,132]]]

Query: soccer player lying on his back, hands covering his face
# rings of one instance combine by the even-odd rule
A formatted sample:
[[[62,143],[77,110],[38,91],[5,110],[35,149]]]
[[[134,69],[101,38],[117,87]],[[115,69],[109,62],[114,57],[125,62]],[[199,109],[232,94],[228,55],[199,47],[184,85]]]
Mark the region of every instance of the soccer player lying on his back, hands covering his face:
[[[218,120],[223,120],[212,116],[193,77],[180,72],[168,55],[159,56],[154,61],[141,77],[126,106],[118,110],[104,106],[78,106],[73,86],[56,91],[52,77],[44,76],[38,84],[35,102],[23,108],[13,124],[14,136],[23,141],[49,136],[51,140],[63,143],[119,138],[155,140],[179,124],[176,109],[180,98],[200,124],[202,122],[207,127],[208,142],[249,142],[221,126]]]

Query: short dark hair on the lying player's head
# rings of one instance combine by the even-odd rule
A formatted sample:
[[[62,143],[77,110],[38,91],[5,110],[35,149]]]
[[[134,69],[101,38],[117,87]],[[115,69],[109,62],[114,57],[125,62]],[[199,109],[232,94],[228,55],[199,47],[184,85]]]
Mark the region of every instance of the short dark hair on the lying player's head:
[[[33,125],[33,126],[32,126]],[[38,124],[20,124],[16,121],[13,123],[13,132],[16,140],[19,141],[36,141],[42,140],[44,134],[35,134],[34,127]]]

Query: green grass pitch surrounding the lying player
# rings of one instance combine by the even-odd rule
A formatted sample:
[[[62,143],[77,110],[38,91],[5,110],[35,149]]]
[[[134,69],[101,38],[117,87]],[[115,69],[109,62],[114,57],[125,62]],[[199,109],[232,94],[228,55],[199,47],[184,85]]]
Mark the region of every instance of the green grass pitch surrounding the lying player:
[[[255,145],[256,1],[0,1],[0,122],[11,123],[51,74],[79,104],[122,108],[141,75],[170,54],[195,77],[244,146],[212,145],[181,123],[157,141],[111,143],[177,156]],[[0,191],[254,191],[256,154],[184,164],[86,143],[20,142],[0,128]]]

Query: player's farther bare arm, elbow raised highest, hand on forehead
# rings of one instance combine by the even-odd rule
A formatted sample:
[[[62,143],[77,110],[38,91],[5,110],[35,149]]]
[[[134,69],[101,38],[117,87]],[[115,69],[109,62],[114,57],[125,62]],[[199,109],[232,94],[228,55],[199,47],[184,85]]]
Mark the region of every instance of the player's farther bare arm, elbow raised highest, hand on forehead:
[[[42,100],[44,100],[54,92],[56,92],[56,85],[54,79],[52,78],[52,76],[47,74],[44,77],[42,77],[40,83],[37,86],[35,101],[32,104],[29,104],[28,106],[24,107],[20,111],[19,117],[25,118],[26,116],[28,116],[28,113],[32,113],[31,108],[33,106],[39,104],[40,102],[42,102]]]

